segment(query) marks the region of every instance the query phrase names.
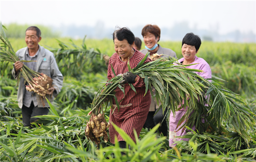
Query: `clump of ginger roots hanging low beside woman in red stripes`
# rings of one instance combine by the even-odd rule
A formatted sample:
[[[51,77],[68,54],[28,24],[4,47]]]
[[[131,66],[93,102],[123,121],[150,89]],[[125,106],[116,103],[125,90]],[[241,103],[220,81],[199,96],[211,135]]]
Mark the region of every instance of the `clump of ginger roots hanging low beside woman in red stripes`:
[[[109,127],[109,123],[106,122],[104,115],[102,114],[92,114],[90,120],[87,123],[85,136],[88,139],[94,141],[97,145],[100,144],[100,137],[104,137],[104,142],[108,142],[108,133],[107,128]]]

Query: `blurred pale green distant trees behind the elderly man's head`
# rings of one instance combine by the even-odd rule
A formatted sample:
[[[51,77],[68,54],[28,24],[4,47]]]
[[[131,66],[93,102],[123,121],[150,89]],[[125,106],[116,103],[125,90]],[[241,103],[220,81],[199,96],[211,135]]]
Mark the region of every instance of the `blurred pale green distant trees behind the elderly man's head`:
[[[5,25],[6,35],[7,37],[13,37],[13,38],[24,38],[25,37],[25,31],[29,26],[32,25],[19,25],[16,23]],[[61,33],[59,31],[53,31],[51,27],[44,26],[44,25],[33,25],[37,26],[41,31],[41,37],[61,37]]]

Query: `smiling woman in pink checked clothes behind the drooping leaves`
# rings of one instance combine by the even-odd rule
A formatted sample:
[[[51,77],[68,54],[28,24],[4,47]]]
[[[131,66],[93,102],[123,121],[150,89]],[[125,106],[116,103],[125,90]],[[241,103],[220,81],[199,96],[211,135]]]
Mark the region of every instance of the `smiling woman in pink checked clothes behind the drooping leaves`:
[[[202,58],[195,56],[197,54],[201,45],[201,39],[199,36],[193,33],[187,33],[185,37],[182,39],[182,56],[183,58],[178,61],[182,63],[182,65],[195,64],[191,66],[187,66],[189,69],[198,69],[203,72],[195,72],[198,75],[204,77],[205,79],[211,78],[211,69],[209,64]],[[175,116],[173,112],[170,112],[169,119],[169,146],[173,147],[176,144],[175,141],[189,141],[189,138],[177,138],[177,136],[186,135],[186,129],[180,129],[181,125],[183,125],[186,121],[183,121],[180,125],[178,125],[179,120],[186,113],[187,108],[182,108],[179,111],[175,112]],[[193,112],[192,112],[193,113]],[[202,121],[204,119],[202,118]],[[195,131],[195,125],[192,126],[192,130]]]

